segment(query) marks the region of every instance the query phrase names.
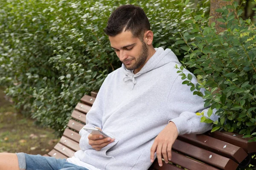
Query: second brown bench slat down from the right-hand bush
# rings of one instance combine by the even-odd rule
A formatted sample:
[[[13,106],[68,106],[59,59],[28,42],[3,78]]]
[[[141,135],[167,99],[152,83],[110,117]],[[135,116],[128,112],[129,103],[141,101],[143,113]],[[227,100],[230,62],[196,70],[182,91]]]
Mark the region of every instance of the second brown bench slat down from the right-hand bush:
[[[185,134],[179,136],[178,139],[233,159],[238,163],[241,163],[247,157],[247,153],[243,150],[243,148],[207,135]]]

